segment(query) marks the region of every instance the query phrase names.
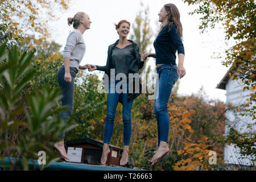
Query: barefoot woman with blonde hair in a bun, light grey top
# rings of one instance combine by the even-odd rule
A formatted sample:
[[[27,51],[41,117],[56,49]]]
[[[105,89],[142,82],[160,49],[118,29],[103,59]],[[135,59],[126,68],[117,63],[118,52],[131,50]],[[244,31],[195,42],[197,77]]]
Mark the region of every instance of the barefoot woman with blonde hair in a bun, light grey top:
[[[73,111],[75,77],[79,69],[90,68],[88,65],[81,66],[82,57],[85,53],[85,42],[82,34],[90,28],[90,18],[84,12],[78,12],[73,18],[68,18],[68,25],[73,24],[74,30],[70,32],[64,48],[63,64],[57,72],[57,80],[63,92],[62,105],[68,109],[61,112],[60,117],[67,122]],[[61,140],[53,146],[59,151],[62,160],[68,161],[68,155],[64,148],[64,133]]]

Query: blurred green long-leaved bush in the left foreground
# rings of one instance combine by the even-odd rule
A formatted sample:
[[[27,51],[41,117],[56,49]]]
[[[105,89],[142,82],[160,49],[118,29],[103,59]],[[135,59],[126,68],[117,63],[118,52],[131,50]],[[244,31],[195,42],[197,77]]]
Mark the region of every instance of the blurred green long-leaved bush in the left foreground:
[[[49,89],[30,88],[36,69],[31,68],[35,50],[19,52],[18,47],[6,51],[6,45],[0,47],[0,157],[22,158],[12,161],[11,169],[28,169],[28,159],[38,159],[38,152],[48,152],[46,166],[57,160],[52,152],[63,131],[71,130],[59,117],[64,107],[56,107],[60,100],[60,92]],[[24,97],[26,96],[26,97]],[[23,115],[23,119],[20,119]],[[19,132],[17,132],[19,131]],[[15,135],[17,140],[12,140]],[[23,165],[20,167],[20,165]],[[46,166],[42,166],[43,169]]]

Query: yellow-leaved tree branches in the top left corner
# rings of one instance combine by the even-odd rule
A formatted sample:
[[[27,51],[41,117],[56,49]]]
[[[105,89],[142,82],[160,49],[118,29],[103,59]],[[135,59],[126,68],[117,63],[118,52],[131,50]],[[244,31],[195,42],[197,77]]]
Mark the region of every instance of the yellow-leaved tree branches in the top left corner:
[[[14,38],[35,35],[36,39],[48,40],[51,28],[48,22],[56,20],[60,10],[67,10],[71,0],[1,0],[0,23],[6,24],[7,32]]]

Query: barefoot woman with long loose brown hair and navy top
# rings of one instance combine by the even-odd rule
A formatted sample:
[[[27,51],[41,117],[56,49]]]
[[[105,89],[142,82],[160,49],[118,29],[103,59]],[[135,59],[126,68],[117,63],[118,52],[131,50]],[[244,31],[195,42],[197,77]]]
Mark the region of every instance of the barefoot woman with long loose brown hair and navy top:
[[[159,75],[156,85],[154,112],[158,123],[158,150],[151,159],[151,166],[154,166],[166,155],[170,149],[168,147],[168,133],[170,128],[170,117],[168,114],[168,100],[170,98],[172,86],[185,75],[184,47],[181,41],[182,26],[180,23],[180,13],[177,7],[170,3],[160,10],[159,22],[161,29],[154,41],[155,53],[146,53],[142,59],[154,57],[156,59],[156,70]],[[179,64],[176,65],[176,52],[179,57]]]

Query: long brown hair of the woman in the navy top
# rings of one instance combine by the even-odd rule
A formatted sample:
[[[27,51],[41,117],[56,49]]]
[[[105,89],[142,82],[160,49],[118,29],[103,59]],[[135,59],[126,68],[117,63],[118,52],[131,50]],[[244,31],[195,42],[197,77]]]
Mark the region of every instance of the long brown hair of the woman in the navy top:
[[[177,27],[177,31],[179,31],[180,39],[182,40],[183,39],[182,30],[183,29],[182,29],[182,25],[180,23],[179,10],[172,3],[168,3],[168,4],[164,5],[164,9],[166,10],[167,13],[168,13],[168,11],[170,12],[169,17],[168,17],[168,21],[169,21],[168,31],[171,31],[172,24],[175,24]]]

